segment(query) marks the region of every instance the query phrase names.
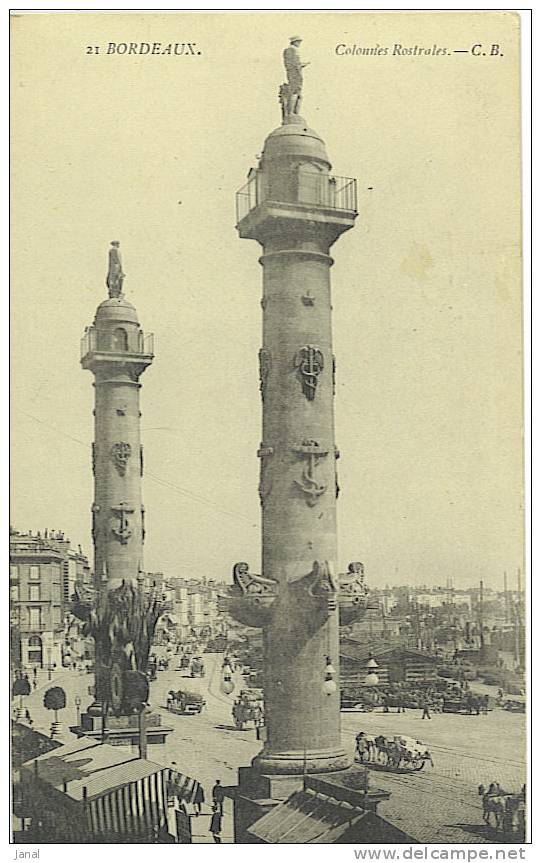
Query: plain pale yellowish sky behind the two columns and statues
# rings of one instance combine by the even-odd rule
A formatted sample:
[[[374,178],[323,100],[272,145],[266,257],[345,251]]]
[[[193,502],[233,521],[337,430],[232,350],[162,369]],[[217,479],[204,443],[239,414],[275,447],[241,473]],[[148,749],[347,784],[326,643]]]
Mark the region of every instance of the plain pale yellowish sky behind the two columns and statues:
[[[311,62],[303,116],[359,189],[331,270],[339,568],[362,560],[375,587],[501,586],[523,566],[510,13],[12,20],[12,524],[63,530],[91,555],[94,390],[79,341],[115,239],[125,295],[155,334],[141,379],[145,567],[260,571],[260,252],[237,236],[235,192],[280,123],[294,32]],[[201,53],[119,56],[110,42]]]

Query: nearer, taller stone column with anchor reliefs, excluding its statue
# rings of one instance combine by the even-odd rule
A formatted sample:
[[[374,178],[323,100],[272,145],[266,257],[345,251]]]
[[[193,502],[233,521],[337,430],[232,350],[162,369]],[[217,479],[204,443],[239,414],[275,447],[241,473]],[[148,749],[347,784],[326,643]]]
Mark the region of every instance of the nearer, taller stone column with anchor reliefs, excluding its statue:
[[[330,168],[322,139],[285,114],[237,196],[239,235],[263,252],[263,571],[237,564],[225,604],[263,628],[266,740],[253,762],[261,775],[351,763],[340,739],[339,605],[351,622],[367,590],[359,564],[336,575],[330,249],[357,209],[355,181]]]

